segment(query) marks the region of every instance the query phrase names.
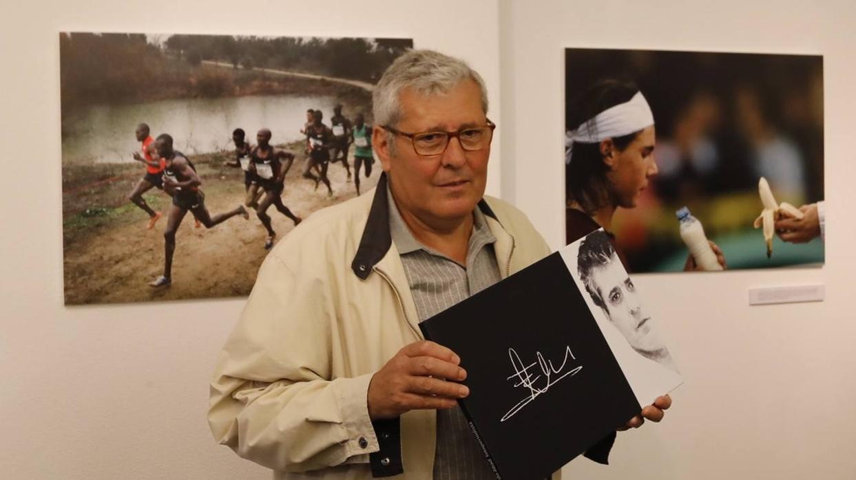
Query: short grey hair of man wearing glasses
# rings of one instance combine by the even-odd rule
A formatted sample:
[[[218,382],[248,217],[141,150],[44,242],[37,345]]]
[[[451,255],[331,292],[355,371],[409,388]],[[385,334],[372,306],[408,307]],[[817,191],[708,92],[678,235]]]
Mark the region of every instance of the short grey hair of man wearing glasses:
[[[484,80],[466,62],[433,50],[409,50],[392,62],[374,87],[375,125],[394,126],[401,120],[401,91],[409,88],[422,95],[445,94],[467,79],[479,85],[482,109],[487,114]]]

